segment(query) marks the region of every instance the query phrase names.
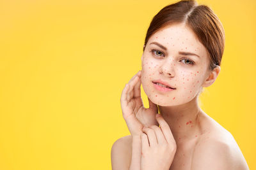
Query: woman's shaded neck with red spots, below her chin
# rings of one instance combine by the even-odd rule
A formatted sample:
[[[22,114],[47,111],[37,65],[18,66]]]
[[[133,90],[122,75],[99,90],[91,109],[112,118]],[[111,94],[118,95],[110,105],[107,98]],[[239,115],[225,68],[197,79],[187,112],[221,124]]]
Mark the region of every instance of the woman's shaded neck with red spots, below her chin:
[[[169,125],[176,143],[198,137],[200,127],[197,97],[178,106],[159,106],[159,113]]]

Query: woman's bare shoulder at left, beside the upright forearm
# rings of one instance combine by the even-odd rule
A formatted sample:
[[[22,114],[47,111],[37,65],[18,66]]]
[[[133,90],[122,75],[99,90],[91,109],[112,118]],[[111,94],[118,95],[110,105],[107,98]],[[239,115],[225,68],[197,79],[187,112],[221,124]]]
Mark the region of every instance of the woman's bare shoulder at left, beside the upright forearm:
[[[132,136],[124,136],[113,143],[111,148],[112,169],[129,169],[132,152]]]

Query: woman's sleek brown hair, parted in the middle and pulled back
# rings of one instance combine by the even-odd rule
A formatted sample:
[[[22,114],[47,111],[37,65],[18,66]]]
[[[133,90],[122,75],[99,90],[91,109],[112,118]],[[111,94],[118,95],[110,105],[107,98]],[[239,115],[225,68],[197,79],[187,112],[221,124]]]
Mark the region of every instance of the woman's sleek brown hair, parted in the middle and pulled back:
[[[194,0],[182,0],[165,6],[154,16],[148,27],[143,52],[148,39],[161,27],[185,23],[192,29],[210,57],[209,70],[220,66],[225,46],[225,32],[219,18],[205,5]]]

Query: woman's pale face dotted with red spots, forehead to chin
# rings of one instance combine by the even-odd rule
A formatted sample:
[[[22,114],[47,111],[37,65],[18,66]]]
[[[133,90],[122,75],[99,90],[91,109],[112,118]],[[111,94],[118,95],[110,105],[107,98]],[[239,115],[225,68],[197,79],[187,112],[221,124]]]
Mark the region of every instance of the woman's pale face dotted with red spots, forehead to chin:
[[[143,89],[148,98],[160,106],[188,103],[200,92],[209,75],[207,50],[184,24],[168,25],[153,34],[141,61]],[[153,83],[157,80],[175,89],[158,90]]]

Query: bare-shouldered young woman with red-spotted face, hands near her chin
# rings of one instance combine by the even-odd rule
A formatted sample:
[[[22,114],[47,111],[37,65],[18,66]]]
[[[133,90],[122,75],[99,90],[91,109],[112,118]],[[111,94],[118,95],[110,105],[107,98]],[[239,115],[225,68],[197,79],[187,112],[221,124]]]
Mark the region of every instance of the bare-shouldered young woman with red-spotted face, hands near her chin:
[[[198,106],[203,87],[220,73],[224,45],[221,22],[205,5],[179,1],[157,13],[145,38],[142,69],[122,91],[131,135],[113,144],[113,170],[248,169],[232,134]]]

